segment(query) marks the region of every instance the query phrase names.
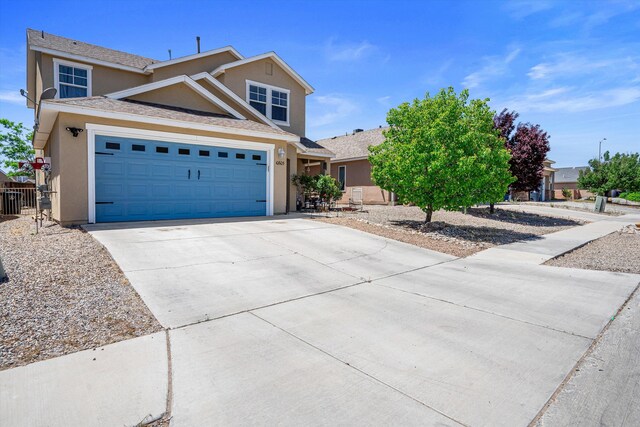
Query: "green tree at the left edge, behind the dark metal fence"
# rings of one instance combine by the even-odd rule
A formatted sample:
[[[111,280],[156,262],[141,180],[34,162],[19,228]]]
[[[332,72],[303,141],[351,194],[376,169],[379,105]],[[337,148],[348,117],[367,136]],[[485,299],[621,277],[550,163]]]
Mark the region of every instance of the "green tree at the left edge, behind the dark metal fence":
[[[14,123],[7,119],[0,119],[0,154],[4,156],[3,166],[7,168],[8,176],[32,176],[33,172],[20,170],[18,162],[33,162],[35,150],[31,146],[33,132],[22,123]]]

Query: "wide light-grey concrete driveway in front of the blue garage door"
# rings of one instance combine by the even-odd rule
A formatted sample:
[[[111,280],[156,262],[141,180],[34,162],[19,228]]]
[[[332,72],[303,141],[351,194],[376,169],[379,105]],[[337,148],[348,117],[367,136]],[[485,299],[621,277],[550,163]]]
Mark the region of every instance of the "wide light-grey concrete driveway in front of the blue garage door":
[[[640,281],[537,265],[517,246],[509,262],[501,252],[456,259],[298,218],[90,232],[169,329],[154,344],[167,351],[130,344],[132,360],[114,362],[100,396],[114,393],[90,406],[114,412],[126,401],[128,418],[112,424],[166,409],[172,426],[527,425]],[[87,378],[91,353],[79,357],[49,381]],[[144,365],[133,419],[125,373],[139,357],[168,368]],[[35,378],[48,362],[9,373]],[[0,386],[17,381],[8,374]],[[169,399],[150,402],[158,389]]]

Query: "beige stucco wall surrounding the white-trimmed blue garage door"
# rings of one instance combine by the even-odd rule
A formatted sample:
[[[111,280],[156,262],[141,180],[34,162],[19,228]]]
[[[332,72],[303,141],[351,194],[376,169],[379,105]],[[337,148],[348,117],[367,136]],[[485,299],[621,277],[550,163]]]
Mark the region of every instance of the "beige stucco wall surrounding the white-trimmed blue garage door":
[[[51,131],[45,152],[51,157],[52,186],[53,190],[57,191],[52,195],[52,217],[63,225],[83,224],[88,221],[87,132],[82,132],[77,138],[74,138],[70,132],[64,130],[69,126],[84,129],[87,123],[273,144],[276,163],[274,165],[274,213],[285,213],[286,185],[288,183],[286,160],[279,159],[277,153],[281,147],[287,150],[288,144],[286,142],[61,113]],[[289,156],[292,155],[290,150],[287,152]]]

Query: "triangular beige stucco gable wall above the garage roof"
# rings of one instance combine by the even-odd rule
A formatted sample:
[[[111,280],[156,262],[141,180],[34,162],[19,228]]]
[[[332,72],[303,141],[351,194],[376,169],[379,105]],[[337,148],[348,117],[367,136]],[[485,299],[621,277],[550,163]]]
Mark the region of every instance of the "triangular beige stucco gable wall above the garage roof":
[[[197,111],[228,115],[226,110],[205,99],[202,95],[188,87],[185,83],[166,86],[150,92],[130,96],[128,99],[169,105],[172,107],[188,108]]]

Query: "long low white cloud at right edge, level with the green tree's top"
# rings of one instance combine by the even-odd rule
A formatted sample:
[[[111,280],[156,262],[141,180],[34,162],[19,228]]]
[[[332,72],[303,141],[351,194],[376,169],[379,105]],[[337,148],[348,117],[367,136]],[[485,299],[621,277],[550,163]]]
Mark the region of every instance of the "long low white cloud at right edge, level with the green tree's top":
[[[504,104],[518,112],[575,113],[619,107],[640,101],[640,86],[617,87],[580,92],[572,87],[559,87],[538,93],[513,97]]]

